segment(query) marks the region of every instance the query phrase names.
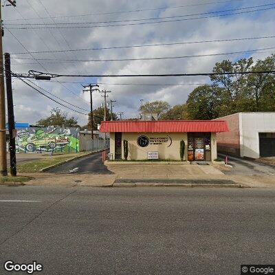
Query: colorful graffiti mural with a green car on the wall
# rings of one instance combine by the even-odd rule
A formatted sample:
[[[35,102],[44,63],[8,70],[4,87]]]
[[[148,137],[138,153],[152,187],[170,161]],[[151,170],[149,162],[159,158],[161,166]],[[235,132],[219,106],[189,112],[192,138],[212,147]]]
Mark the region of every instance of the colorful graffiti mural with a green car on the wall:
[[[78,128],[30,127],[17,130],[17,151],[79,151]]]

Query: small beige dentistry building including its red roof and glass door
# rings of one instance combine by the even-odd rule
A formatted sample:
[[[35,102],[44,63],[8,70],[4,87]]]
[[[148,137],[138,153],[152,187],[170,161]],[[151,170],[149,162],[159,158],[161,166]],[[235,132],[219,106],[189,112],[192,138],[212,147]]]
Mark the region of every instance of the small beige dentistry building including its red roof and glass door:
[[[184,160],[212,161],[217,158],[216,133],[228,131],[225,121],[156,120],[104,121],[100,132],[110,133],[111,159],[124,159],[124,142],[129,160],[181,160],[180,143],[184,140]]]

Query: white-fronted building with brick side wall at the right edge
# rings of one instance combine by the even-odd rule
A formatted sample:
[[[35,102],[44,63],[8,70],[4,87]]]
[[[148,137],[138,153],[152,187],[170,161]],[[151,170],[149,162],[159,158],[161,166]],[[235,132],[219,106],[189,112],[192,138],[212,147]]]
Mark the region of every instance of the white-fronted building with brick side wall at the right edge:
[[[217,133],[219,152],[254,159],[275,156],[275,112],[234,113],[217,120],[229,128]]]

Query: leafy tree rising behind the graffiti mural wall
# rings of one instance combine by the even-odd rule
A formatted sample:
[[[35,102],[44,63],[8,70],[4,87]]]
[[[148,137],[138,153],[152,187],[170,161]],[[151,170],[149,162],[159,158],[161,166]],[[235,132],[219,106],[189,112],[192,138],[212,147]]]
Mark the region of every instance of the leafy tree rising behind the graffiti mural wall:
[[[77,119],[72,116],[68,117],[67,113],[61,111],[59,108],[53,108],[51,115],[47,118],[39,120],[37,123],[39,126],[65,126],[65,127],[78,127]]]

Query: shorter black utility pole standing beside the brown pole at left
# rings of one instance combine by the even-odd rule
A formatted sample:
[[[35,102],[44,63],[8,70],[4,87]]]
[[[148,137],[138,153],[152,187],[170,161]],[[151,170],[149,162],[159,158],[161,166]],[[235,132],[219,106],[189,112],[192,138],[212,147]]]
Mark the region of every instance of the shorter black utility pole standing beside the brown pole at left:
[[[8,129],[10,134],[10,175],[17,175],[17,152],[15,147],[15,137],[17,135],[14,126],[14,109],[12,98],[12,74],[10,71],[10,54],[5,53],[5,87],[7,88],[8,102]]]

